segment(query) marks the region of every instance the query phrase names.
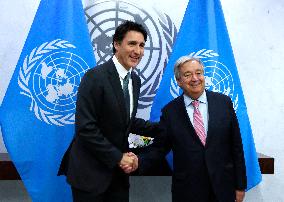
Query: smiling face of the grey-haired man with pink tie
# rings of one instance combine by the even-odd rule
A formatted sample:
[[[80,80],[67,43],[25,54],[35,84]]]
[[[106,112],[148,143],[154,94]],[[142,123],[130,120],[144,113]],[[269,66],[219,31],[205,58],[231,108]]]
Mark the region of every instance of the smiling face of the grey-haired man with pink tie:
[[[177,80],[179,87],[192,99],[198,99],[205,89],[203,67],[195,60],[188,61],[179,68],[180,78]]]

